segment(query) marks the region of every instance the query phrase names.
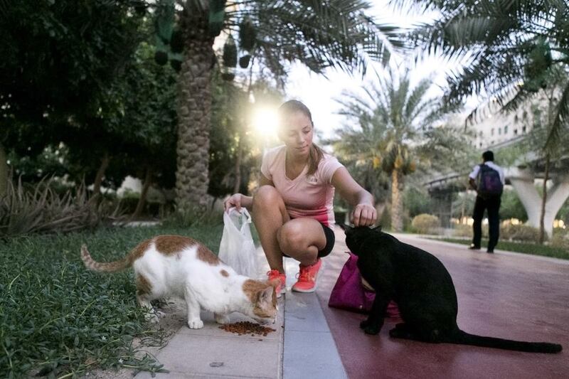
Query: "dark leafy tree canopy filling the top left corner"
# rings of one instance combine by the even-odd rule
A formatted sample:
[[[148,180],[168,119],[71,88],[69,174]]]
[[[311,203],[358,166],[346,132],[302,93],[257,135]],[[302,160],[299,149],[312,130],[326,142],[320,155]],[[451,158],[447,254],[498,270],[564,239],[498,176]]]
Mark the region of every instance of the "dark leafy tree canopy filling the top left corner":
[[[139,1],[72,3],[19,1],[2,11],[4,146],[41,151],[58,139],[60,128],[97,114],[101,92],[124,69],[141,39]]]

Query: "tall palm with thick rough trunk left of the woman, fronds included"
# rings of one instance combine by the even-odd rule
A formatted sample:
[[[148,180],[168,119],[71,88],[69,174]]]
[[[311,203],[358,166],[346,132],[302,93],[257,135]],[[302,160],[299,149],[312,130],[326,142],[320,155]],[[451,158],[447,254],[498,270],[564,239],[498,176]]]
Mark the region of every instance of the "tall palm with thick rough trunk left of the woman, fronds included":
[[[314,73],[326,68],[365,72],[368,60],[387,60],[388,49],[401,45],[395,27],[380,26],[366,15],[370,7],[363,0],[176,1],[184,41],[177,105],[179,209],[203,205],[207,199],[215,36],[240,34],[241,47],[280,83],[287,64],[295,60]],[[235,67],[235,59],[229,60]]]

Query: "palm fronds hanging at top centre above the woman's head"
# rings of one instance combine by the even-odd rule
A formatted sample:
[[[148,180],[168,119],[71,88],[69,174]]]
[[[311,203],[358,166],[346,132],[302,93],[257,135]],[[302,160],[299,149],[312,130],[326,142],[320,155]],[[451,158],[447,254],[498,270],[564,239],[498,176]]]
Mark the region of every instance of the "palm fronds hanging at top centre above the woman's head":
[[[402,46],[398,28],[378,25],[365,12],[368,1],[257,1],[248,9],[258,39],[279,60],[300,60],[321,73],[326,68],[365,72],[369,60],[381,61]],[[274,62],[277,57],[267,58]]]

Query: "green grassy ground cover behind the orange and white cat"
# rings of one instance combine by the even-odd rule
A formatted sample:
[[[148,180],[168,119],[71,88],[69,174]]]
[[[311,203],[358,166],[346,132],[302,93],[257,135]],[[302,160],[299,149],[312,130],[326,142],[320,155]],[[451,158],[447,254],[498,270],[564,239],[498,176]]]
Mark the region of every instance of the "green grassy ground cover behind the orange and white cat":
[[[87,271],[80,246],[86,243],[95,260],[111,261],[148,237],[180,234],[217,251],[222,230],[222,224],[113,228],[0,240],[0,373],[69,378],[96,367],[161,370],[131,346],[135,337],[161,338],[136,305],[132,269]]]

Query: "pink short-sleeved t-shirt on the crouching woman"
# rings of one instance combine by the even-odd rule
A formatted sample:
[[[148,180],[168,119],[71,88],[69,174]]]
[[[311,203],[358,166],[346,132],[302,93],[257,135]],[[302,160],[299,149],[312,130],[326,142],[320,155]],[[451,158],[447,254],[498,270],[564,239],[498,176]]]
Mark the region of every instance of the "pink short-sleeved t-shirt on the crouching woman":
[[[275,184],[291,218],[314,218],[326,226],[334,225],[334,186],[332,176],[340,167],[338,159],[324,154],[314,175],[307,175],[308,165],[299,176],[287,178],[285,145],[268,150],[262,157],[261,173]]]

